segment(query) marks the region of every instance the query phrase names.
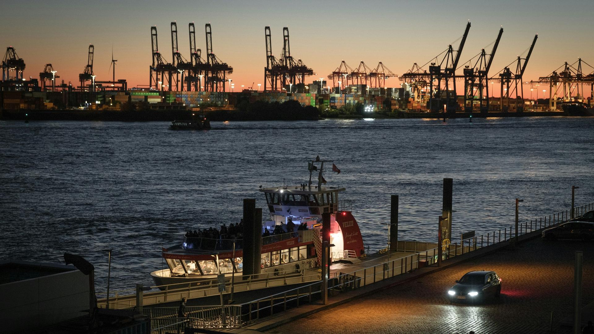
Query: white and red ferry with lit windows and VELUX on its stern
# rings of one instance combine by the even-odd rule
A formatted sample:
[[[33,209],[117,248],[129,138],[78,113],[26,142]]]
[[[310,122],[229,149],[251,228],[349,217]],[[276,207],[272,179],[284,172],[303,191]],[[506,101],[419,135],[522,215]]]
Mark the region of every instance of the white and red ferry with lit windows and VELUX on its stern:
[[[333,261],[357,261],[364,253],[361,231],[350,210],[339,210],[339,193],[345,188],[327,187],[323,178],[324,163],[331,160],[309,160],[309,181],[295,186],[260,188],[266,197],[270,219],[262,226],[261,273],[258,278],[273,276],[303,276],[307,269],[321,264],[322,214],[330,213],[330,254]],[[339,171],[334,164],[333,171]],[[312,185],[313,172],[318,174]],[[238,224],[241,226],[241,223]],[[243,240],[235,229],[213,229],[188,232],[181,244],[162,249],[167,268],[151,272],[157,286],[197,282],[216,282],[223,273],[226,281],[232,275],[242,275]],[[225,228],[226,229],[226,228]],[[239,232],[238,232],[239,231]],[[226,233],[224,233],[226,232]],[[233,232],[233,231],[231,231]],[[208,234],[219,234],[213,238]],[[315,270],[317,272],[317,270]],[[311,272],[310,272],[311,273]]]

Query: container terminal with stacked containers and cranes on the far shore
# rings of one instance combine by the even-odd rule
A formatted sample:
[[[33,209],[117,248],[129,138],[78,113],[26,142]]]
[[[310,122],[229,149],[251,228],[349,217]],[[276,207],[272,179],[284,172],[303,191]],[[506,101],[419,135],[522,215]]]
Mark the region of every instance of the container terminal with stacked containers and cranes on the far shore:
[[[590,109],[594,94],[594,67],[581,58],[571,64],[564,62],[538,80],[528,81],[524,77],[538,34],[531,43],[527,40],[527,48],[521,55],[508,59],[511,62],[497,73],[491,70],[491,65],[503,36],[503,27],[491,43],[491,50],[481,49],[468,61],[461,62],[470,22],[457,46],[447,45],[430,61],[415,62],[401,75],[394,74],[381,61],[374,68],[364,61],[354,68],[341,61],[326,77],[315,74],[304,61],[291,55],[287,27],[283,28],[282,55],[274,56],[271,29],[266,26],[264,84],[254,82],[250,87],[242,85],[240,88],[235,87],[230,78],[233,67],[213,52],[210,23],[204,27],[206,57],[203,58],[201,49],[197,48],[195,24],[189,23],[189,58],[185,58],[178,49],[177,23],[171,23],[170,62],[159,52],[157,27],[150,27],[150,81],[148,85],[137,87],[128,87],[125,79],[116,80],[117,60],[113,59],[113,52],[109,68],[111,78],[98,80],[93,72],[93,45],[89,45],[87,64],[84,67],[81,64],[78,86],[65,80],[57,83],[58,71],[49,63],[39,73],[39,79],[27,79],[24,59],[17,55],[14,47],[8,46],[1,64],[0,105],[5,111],[119,110],[125,102],[146,102],[151,109],[197,111],[206,106],[235,109],[242,101],[283,103],[296,100],[302,106],[315,106],[321,111],[361,103],[368,112],[383,111],[401,116],[406,113],[447,114],[448,117],[510,113],[511,116],[523,112],[561,115],[564,103],[579,103],[581,108]],[[400,86],[387,87],[386,79],[389,78],[398,78]],[[530,87],[529,94],[524,92],[525,86]]]

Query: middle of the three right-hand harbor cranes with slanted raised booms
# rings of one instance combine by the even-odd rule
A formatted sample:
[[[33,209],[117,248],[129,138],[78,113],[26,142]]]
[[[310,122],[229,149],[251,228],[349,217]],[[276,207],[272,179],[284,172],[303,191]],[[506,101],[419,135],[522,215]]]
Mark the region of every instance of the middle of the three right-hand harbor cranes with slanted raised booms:
[[[466,66],[463,70],[464,106],[465,111],[467,112],[473,111],[476,102],[478,102],[478,110],[480,112],[489,111],[489,68],[491,68],[502,34],[503,27],[499,30],[497,39],[495,39],[495,42],[493,43],[491,53],[487,54],[485,53],[485,49],[482,49],[478,55],[469,61],[472,64],[472,60],[478,56],[475,64],[472,67]]]

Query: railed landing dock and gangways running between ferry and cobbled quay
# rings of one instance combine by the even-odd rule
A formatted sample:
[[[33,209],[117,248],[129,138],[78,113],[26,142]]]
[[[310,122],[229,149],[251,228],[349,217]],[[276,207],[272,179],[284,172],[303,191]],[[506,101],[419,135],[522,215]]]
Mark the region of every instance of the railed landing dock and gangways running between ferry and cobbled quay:
[[[239,297],[232,305],[217,305],[214,302],[216,300],[214,298],[218,294],[216,282],[212,286],[193,287],[191,283],[185,283],[186,286],[183,288],[166,288],[164,291],[157,292],[144,293],[140,290],[137,291],[137,294],[143,294],[143,298],[127,296],[114,299],[112,297],[110,305],[113,305],[113,308],[138,308],[140,305],[136,305],[135,301],[141,300],[144,303],[144,313],[160,314],[160,316],[154,317],[154,325],[160,326],[161,329],[167,329],[183,320],[176,318],[175,305],[179,303],[181,297],[190,297],[194,298],[196,302],[189,307],[189,320],[184,320],[184,326],[188,326],[188,328],[192,326],[213,329],[245,327],[266,330],[287,322],[286,316],[282,315],[287,310],[290,310],[291,319],[298,319],[316,311],[346,303],[353,298],[431,275],[463,261],[507,248],[511,244],[511,240],[516,237],[519,242],[537,238],[545,228],[567,222],[572,211],[577,216],[592,209],[594,209],[594,202],[519,222],[517,235],[516,226],[510,225],[485,234],[473,235],[459,242],[451,241],[441,247],[437,242],[398,241],[397,251],[392,253],[389,258],[387,254],[376,254],[355,264],[346,264],[343,261],[331,264],[326,289],[323,289],[324,280],[321,272],[308,269],[307,275],[295,278],[289,276],[268,277],[261,278],[259,281],[245,282],[238,276],[234,281],[235,291],[244,289],[243,291],[248,293],[244,297]],[[441,252],[438,252],[440,248]],[[438,253],[441,253],[441,267],[437,267]],[[291,281],[292,279],[293,281]],[[242,283],[238,284],[238,282]],[[267,291],[276,289],[278,292],[274,291],[273,294],[266,297],[245,301],[251,296],[262,295],[263,290],[254,292],[258,285],[260,288],[269,288],[270,290]],[[281,288],[278,288],[279,286]],[[291,289],[286,289],[287,286]],[[328,294],[327,305],[320,303],[323,299],[323,292]],[[344,294],[345,292],[349,294]],[[210,300],[203,298],[210,295],[213,296]],[[239,300],[240,298],[244,300]],[[105,307],[105,299],[99,300],[99,306]],[[223,308],[225,309],[225,313],[223,313],[225,314],[224,326]],[[277,317],[274,317],[275,314]],[[283,320],[279,320],[279,316]]]

